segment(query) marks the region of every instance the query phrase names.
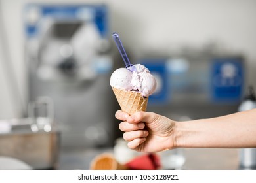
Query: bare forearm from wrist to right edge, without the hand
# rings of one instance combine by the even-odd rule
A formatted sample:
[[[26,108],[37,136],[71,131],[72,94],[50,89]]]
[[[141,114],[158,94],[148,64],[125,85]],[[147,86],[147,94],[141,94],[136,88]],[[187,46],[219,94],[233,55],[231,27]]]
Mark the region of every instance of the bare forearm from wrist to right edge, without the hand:
[[[175,146],[256,148],[256,109],[227,116],[176,122]]]

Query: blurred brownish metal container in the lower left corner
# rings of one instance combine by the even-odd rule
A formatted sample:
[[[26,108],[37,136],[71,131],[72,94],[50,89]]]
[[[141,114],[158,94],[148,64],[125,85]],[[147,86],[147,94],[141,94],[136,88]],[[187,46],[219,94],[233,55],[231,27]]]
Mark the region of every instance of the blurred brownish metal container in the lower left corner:
[[[24,161],[33,169],[58,167],[58,131],[0,134],[0,156]]]

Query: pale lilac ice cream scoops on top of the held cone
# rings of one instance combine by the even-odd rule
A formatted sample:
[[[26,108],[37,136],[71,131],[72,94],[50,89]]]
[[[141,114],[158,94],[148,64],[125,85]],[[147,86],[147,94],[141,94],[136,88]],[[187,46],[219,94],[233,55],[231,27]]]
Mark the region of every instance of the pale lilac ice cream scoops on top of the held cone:
[[[125,68],[116,69],[110,77],[110,85],[128,91],[136,90],[144,97],[152,95],[156,90],[156,79],[144,65],[134,66],[136,71],[133,72]]]

